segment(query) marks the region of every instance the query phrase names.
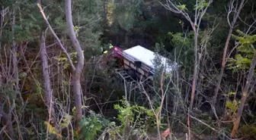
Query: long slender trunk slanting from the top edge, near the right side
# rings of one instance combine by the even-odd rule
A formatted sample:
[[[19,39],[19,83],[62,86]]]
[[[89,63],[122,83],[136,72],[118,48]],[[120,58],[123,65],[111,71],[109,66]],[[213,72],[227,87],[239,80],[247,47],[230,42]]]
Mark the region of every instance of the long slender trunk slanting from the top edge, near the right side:
[[[217,99],[217,96],[218,96],[220,83],[222,81],[222,76],[223,76],[224,68],[225,68],[225,65],[226,65],[226,54],[227,54],[227,50],[229,48],[229,40],[231,38],[232,31],[233,31],[233,28],[235,26],[235,22],[238,19],[238,15],[240,14],[240,11],[241,11],[241,9],[242,9],[242,7],[244,5],[244,2],[245,2],[245,0],[242,0],[242,2],[240,3],[238,11],[235,12],[234,19],[232,20],[231,26],[229,28],[229,35],[228,35],[228,37],[226,39],[226,44],[225,44],[225,48],[224,48],[223,55],[222,55],[222,67],[220,69],[220,73],[219,73],[219,76],[218,76],[217,86],[216,86],[216,89],[214,90],[214,95],[213,95],[213,106],[214,107],[216,107],[216,99]]]

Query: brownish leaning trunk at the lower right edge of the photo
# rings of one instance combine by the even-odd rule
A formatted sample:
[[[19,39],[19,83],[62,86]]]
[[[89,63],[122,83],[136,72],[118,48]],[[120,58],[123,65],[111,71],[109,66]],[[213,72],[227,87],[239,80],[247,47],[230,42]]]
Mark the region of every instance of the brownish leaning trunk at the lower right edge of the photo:
[[[251,78],[252,78],[252,76],[254,76],[255,65],[256,65],[256,54],[254,54],[254,58],[251,62],[251,67],[250,67],[250,70],[249,70],[249,73],[248,73],[247,81],[246,81],[246,84],[245,84],[245,89],[242,92],[241,103],[239,104],[238,113],[236,114],[235,123],[234,123],[232,133],[231,133],[232,138],[235,138],[235,134],[238,130],[238,126],[239,126],[239,123],[240,123],[240,120],[241,120],[241,117],[242,117],[242,111],[244,109],[245,101],[246,101],[246,98],[247,98],[247,95],[248,95],[248,90],[250,88]]]

